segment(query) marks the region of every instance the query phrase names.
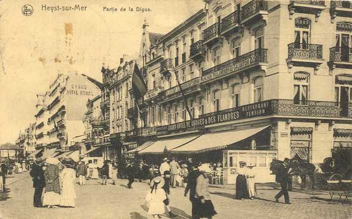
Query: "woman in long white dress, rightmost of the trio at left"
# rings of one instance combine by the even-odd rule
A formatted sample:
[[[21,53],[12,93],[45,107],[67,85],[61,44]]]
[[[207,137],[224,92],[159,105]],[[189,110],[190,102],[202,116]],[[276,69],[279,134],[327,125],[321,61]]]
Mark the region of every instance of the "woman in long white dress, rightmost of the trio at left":
[[[60,205],[66,207],[75,206],[76,192],[74,190],[74,180],[76,179],[76,172],[74,171],[74,163],[70,160],[61,161],[65,165],[65,169],[62,170],[62,192]]]

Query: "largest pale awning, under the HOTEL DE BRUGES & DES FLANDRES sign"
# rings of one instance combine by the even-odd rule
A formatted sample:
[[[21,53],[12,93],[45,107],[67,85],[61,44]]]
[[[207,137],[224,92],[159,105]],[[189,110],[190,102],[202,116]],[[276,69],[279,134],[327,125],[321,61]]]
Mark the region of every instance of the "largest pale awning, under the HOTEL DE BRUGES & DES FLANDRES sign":
[[[182,147],[175,147],[171,149],[171,153],[202,153],[223,149],[226,148],[228,145],[251,137],[256,133],[268,128],[269,126],[246,130],[233,130],[203,134],[199,138],[195,139],[194,141],[191,141],[188,144],[185,144]]]

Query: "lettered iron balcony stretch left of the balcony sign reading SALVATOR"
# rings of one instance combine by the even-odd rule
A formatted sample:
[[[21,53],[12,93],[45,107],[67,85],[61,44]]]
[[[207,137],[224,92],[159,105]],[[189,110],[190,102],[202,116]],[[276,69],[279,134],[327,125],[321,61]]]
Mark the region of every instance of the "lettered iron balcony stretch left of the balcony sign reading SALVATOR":
[[[195,92],[195,91],[200,91],[201,90],[200,82],[201,82],[201,77],[195,77],[189,81],[182,83],[181,84],[182,90],[184,91],[185,94]],[[161,94],[161,97],[163,100],[166,100],[166,99],[169,100],[170,98],[179,97],[179,96],[181,96],[179,85],[166,89]]]

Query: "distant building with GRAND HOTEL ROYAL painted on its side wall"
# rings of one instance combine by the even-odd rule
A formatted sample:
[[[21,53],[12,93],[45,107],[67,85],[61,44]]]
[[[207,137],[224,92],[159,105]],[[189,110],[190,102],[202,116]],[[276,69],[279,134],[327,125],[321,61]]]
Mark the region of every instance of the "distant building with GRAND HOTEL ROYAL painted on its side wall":
[[[49,89],[37,94],[36,149],[69,151],[84,133],[85,103],[100,93],[101,83],[77,73],[58,74]]]

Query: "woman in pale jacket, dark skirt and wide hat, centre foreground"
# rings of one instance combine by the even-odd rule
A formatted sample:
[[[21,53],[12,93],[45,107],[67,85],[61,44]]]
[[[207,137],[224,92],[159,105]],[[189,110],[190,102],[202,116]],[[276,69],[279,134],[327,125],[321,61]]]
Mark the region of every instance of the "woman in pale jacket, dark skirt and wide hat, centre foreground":
[[[198,167],[201,175],[197,177],[196,195],[192,209],[192,218],[212,218],[216,213],[210,199],[208,174],[212,171],[209,164]]]

